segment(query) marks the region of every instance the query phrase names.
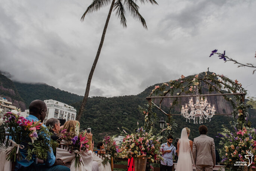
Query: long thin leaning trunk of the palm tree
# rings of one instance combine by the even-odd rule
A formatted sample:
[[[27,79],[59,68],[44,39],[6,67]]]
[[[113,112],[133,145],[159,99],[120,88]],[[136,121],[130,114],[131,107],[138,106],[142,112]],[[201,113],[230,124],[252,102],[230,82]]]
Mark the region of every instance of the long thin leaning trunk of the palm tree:
[[[103,29],[102,36],[101,36],[101,43],[99,43],[99,48],[98,48],[96,57],[94,59],[94,62],[92,64],[92,69],[90,71],[90,74],[89,74],[89,77],[88,77],[88,80],[87,80],[86,89],[85,89],[85,93],[84,93],[84,99],[82,101],[82,104],[81,104],[81,107],[79,109],[78,115],[76,116],[76,120],[78,120],[78,121],[80,120],[81,116],[83,115],[84,106],[86,105],[86,102],[87,102],[87,99],[88,99],[88,96],[89,96],[90,85],[91,85],[91,81],[92,81],[92,75],[93,75],[93,72],[95,70],[96,64],[98,62],[99,54],[101,53],[101,48],[102,48],[102,45],[104,43],[105,34],[106,34],[106,31],[107,31],[107,28],[108,28],[108,22],[110,21],[110,16],[111,16],[111,12],[112,12],[114,3],[115,3],[115,0],[112,0],[111,6],[110,6],[110,11],[108,12],[108,17],[107,17],[107,20],[106,20],[106,23],[105,23],[105,26],[104,26],[104,29]]]

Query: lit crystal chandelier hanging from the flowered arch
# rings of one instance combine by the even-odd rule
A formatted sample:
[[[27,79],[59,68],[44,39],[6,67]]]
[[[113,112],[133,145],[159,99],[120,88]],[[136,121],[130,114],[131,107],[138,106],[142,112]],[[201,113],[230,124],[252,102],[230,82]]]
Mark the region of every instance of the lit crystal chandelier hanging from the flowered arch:
[[[205,97],[205,100],[203,99],[203,97],[201,97],[201,99],[199,96],[196,97],[196,102],[194,104],[193,102],[193,97],[191,97],[191,99],[189,100],[189,103],[182,105],[181,108],[181,115],[183,117],[186,118],[186,121],[190,122],[190,119],[194,120],[194,124],[197,123],[198,124],[198,120],[199,120],[199,124],[203,123],[203,118],[206,120],[209,118],[209,122],[211,121],[212,116],[215,114],[215,106],[207,102],[207,97]],[[190,109],[190,113],[188,112]]]

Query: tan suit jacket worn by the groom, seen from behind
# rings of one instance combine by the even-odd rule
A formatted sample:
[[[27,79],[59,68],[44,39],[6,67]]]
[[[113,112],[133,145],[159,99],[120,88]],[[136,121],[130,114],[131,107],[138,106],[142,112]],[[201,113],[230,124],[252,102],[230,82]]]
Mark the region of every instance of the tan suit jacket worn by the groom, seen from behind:
[[[216,158],[213,138],[206,135],[196,137],[193,142],[192,154],[195,165],[214,166],[216,163]]]

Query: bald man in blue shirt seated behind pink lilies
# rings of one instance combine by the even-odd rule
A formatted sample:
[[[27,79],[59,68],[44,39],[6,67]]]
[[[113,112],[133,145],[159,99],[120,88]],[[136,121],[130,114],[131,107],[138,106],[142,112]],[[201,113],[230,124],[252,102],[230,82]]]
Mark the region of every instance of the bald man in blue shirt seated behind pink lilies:
[[[30,115],[26,118],[30,121],[38,121],[41,120],[43,122],[47,107],[45,103],[41,100],[34,100],[30,103],[29,106]],[[45,125],[43,125],[45,127]],[[45,136],[45,135],[43,135]],[[46,139],[48,139],[45,136]],[[30,161],[26,160],[26,157],[28,156],[27,148],[19,149],[21,152],[21,159],[16,161],[15,170],[19,171],[70,171],[69,168],[63,166],[65,163],[61,159],[55,158],[53,155],[52,147],[50,147],[50,152],[48,153],[48,158],[46,161],[44,161],[44,164],[36,164],[35,159],[36,155],[32,156],[32,159]]]

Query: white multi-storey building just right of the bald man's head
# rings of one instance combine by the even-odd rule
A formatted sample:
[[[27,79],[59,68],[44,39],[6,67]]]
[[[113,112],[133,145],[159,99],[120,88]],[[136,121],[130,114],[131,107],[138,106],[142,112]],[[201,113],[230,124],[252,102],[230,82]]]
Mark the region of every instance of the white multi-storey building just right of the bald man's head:
[[[75,120],[77,110],[73,106],[52,99],[44,100],[44,103],[47,106],[44,124],[48,118],[66,119],[66,121]]]

